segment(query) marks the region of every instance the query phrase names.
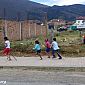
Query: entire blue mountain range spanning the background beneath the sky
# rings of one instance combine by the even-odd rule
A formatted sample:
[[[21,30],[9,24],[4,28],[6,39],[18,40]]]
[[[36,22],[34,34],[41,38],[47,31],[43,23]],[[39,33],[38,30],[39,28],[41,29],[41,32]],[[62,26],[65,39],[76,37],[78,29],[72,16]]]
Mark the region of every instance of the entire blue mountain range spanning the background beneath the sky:
[[[78,16],[85,16],[85,5],[46,6],[29,0],[0,0],[0,17],[10,20],[38,19],[44,20],[47,13],[48,20],[61,18],[75,20]]]

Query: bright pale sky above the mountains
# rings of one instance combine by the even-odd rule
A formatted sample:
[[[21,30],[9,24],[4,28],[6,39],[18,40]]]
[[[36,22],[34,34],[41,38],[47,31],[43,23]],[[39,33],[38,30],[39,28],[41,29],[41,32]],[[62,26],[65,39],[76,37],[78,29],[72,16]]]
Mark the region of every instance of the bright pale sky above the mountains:
[[[53,5],[72,5],[72,4],[85,4],[85,0],[31,0],[48,6]]]

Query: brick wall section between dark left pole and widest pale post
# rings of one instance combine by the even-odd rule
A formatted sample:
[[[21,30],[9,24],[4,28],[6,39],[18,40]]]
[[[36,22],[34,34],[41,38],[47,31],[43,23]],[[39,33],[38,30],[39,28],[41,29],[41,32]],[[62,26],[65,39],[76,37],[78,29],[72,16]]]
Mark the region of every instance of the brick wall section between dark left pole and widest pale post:
[[[7,21],[7,36],[10,40],[20,40],[20,26],[16,21]]]

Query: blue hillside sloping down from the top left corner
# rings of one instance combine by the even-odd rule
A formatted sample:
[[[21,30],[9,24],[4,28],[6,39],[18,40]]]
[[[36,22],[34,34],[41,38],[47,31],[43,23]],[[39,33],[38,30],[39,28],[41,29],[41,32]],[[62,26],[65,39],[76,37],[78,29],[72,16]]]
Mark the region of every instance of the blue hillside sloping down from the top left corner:
[[[4,18],[5,14],[6,19],[26,19],[29,12],[45,7],[47,6],[29,0],[0,0],[0,17]]]

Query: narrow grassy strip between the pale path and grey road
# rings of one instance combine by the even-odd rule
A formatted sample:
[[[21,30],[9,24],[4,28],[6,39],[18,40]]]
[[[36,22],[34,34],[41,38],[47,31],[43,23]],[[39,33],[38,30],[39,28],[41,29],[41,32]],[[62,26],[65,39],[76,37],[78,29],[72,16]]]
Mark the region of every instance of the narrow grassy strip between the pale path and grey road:
[[[85,67],[0,66],[0,69],[22,69],[55,72],[85,72]]]

